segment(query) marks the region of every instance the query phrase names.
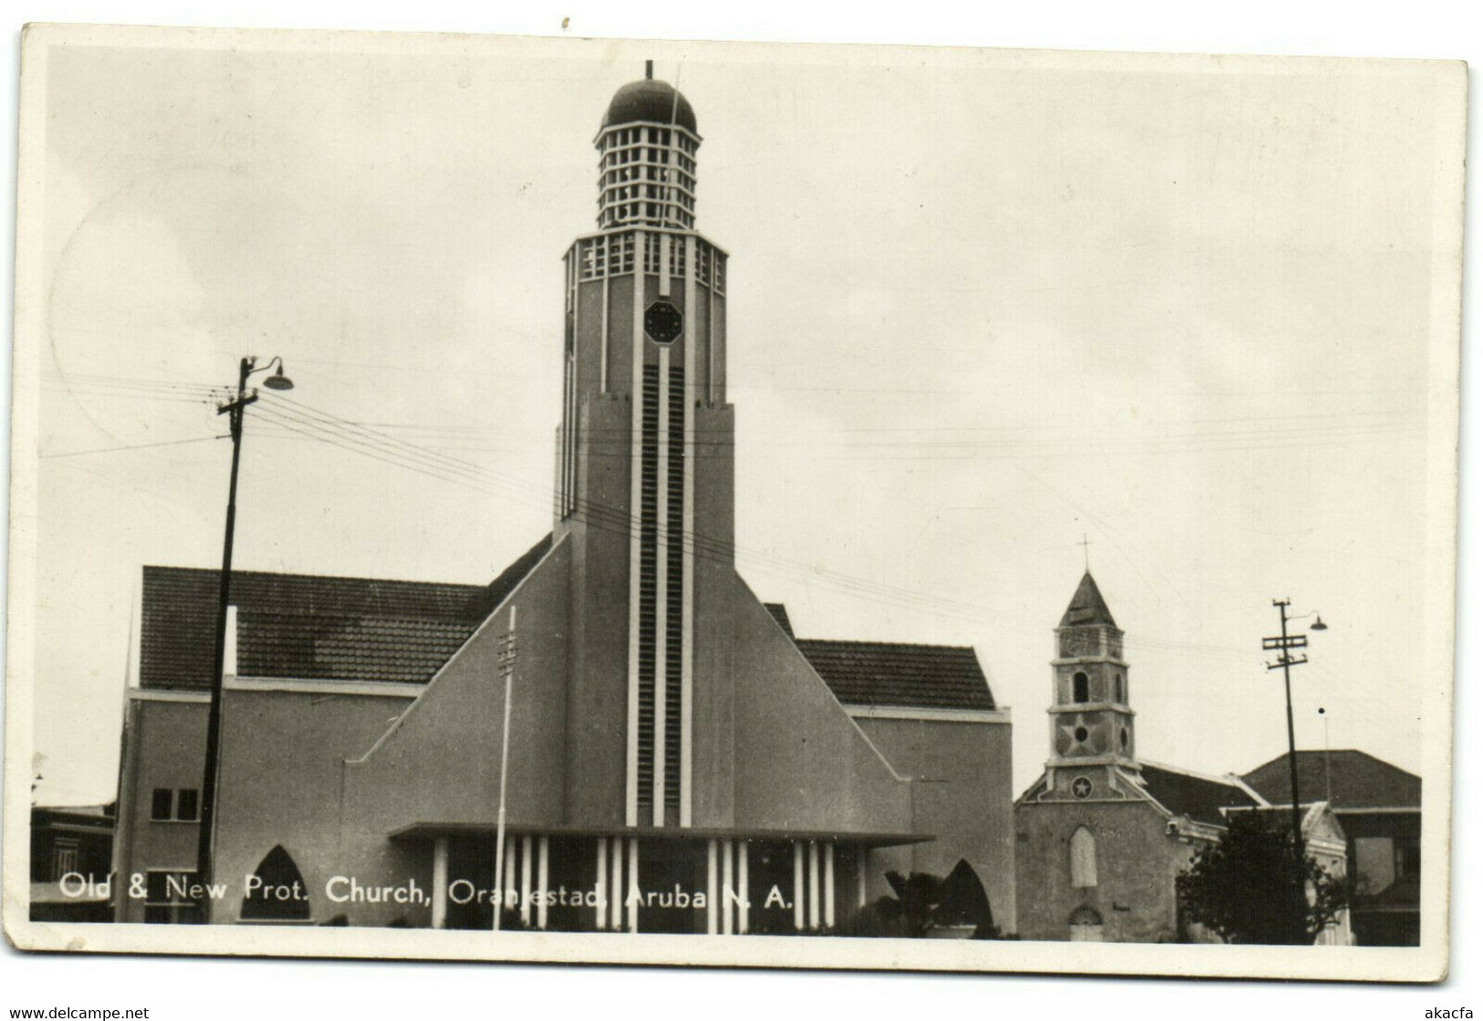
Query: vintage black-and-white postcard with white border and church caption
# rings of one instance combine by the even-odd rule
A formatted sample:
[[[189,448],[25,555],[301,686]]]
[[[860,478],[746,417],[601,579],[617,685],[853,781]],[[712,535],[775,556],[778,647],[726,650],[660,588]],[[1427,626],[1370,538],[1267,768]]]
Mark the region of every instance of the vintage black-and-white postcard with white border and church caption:
[[[9,939],[1439,980],[1465,92],[30,27]]]

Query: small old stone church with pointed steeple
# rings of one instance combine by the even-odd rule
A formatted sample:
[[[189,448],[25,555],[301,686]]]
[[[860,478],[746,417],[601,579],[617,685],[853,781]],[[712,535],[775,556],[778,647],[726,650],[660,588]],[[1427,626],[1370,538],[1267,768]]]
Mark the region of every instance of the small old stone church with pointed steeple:
[[[1206,939],[1180,917],[1176,880],[1229,812],[1268,803],[1240,776],[1137,756],[1123,631],[1090,572],[1054,633],[1050,759],[1014,803],[1019,935]],[[1323,809],[1305,827],[1320,855],[1332,857],[1333,831]]]

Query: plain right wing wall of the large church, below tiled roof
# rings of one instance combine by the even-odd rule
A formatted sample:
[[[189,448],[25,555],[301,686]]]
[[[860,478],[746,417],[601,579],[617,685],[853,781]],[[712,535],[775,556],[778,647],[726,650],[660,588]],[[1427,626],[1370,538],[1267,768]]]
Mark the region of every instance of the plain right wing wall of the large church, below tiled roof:
[[[897,772],[912,779],[912,871],[946,876],[967,859],[994,922],[1014,932],[1014,796],[1010,725],[860,719],[860,729]]]

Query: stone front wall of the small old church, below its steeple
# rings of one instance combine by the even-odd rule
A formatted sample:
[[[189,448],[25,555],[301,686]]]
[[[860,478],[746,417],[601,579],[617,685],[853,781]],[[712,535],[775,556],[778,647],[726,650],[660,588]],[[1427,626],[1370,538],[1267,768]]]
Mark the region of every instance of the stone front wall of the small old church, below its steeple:
[[[1071,834],[1096,837],[1097,885],[1071,886]],[[1022,939],[1069,938],[1071,913],[1083,904],[1102,916],[1108,942],[1158,942],[1178,935],[1175,877],[1194,846],[1166,831],[1145,802],[1056,802],[1014,811],[1014,868]]]

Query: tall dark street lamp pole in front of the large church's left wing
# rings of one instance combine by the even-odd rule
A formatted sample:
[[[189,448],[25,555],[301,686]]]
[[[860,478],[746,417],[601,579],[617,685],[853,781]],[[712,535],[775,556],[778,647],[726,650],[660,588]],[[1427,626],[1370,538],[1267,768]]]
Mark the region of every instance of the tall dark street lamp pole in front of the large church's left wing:
[[[217,779],[221,771],[218,762],[221,744],[221,671],[227,653],[227,606],[231,603],[231,539],[237,523],[237,465],[242,461],[242,416],[258,394],[248,393],[248,379],[276,366],[276,372],[262,381],[268,390],[292,390],[294,381],[283,375],[283,359],[274,357],[258,366],[255,356],[242,359],[237,373],[237,393],[217,408],[218,415],[228,415],[231,422],[231,482],[227,486],[227,535],[221,545],[221,590],[217,602],[217,649],[211,673],[211,710],[206,714],[206,769],[200,785],[200,834],[196,845],[196,883],[202,891],[202,920],[211,920],[211,868],[217,830]]]

